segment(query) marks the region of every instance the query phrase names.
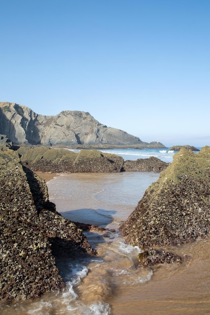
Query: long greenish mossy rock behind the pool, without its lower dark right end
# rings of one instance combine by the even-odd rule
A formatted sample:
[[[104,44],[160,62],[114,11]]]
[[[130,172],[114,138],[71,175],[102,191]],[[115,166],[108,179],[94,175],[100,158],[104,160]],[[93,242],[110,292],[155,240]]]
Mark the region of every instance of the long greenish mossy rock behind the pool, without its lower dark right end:
[[[24,166],[33,171],[53,173],[111,173],[120,172],[124,163],[121,156],[97,150],[75,153],[63,148],[32,147],[21,156]]]

